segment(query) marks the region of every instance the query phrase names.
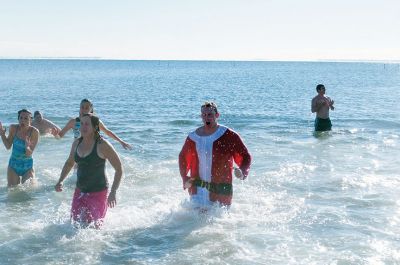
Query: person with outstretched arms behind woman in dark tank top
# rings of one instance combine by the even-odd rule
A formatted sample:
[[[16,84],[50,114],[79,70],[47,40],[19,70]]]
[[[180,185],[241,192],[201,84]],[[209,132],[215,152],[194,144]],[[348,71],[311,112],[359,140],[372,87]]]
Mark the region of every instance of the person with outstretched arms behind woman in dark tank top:
[[[58,136],[59,137],[64,137],[64,135],[69,131],[73,130],[74,132],[74,138],[77,139],[80,137],[80,125],[81,125],[81,118],[84,114],[93,114],[93,104],[90,100],[88,99],[82,99],[81,104],[80,104],[80,110],[79,110],[79,117],[76,117],[75,119],[71,119],[68,121],[68,123],[64,126],[64,128],[59,132]],[[107,136],[113,138],[117,142],[119,142],[123,148],[127,150],[132,150],[132,146],[123,140],[121,140],[115,133],[113,133],[111,130],[109,130],[102,121],[100,122],[100,130],[103,131]]]

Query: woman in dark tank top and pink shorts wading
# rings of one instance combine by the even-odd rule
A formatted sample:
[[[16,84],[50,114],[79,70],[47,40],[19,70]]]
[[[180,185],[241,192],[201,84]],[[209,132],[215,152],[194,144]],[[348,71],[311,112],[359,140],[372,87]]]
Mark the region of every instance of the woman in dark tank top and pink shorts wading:
[[[76,163],[77,182],[72,199],[71,218],[83,226],[94,224],[99,228],[107,207],[117,204],[116,192],[121,182],[121,160],[113,146],[100,136],[100,120],[92,114],[81,117],[81,137],[72,144],[71,151],[55,190],[63,190],[63,181]],[[108,193],[105,163],[108,160],[114,168],[114,181]],[[107,196],[108,194],[108,196]]]

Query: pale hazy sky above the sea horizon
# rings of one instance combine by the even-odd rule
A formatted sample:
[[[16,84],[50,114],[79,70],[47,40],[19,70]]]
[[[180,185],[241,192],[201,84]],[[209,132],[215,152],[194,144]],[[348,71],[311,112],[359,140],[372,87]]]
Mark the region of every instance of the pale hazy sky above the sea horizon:
[[[400,61],[400,1],[0,0],[0,58]]]

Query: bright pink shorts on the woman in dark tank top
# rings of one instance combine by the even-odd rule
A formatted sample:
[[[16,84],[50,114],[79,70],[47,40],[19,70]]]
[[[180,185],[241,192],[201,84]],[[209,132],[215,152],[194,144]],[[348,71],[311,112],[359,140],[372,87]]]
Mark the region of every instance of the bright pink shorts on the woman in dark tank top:
[[[72,220],[87,224],[101,222],[107,212],[107,194],[107,189],[83,193],[79,188],[76,188],[72,199]]]

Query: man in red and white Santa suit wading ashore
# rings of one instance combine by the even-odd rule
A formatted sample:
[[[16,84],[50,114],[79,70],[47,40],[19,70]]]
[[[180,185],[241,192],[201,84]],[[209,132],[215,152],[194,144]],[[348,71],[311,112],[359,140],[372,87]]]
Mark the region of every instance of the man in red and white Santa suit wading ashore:
[[[199,206],[230,205],[233,162],[239,167],[235,176],[243,180],[249,174],[251,156],[236,132],[218,124],[214,102],[201,106],[201,118],[203,126],[189,134],[179,154],[183,188]]]

